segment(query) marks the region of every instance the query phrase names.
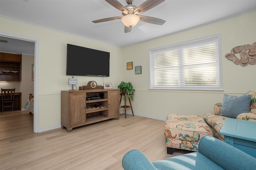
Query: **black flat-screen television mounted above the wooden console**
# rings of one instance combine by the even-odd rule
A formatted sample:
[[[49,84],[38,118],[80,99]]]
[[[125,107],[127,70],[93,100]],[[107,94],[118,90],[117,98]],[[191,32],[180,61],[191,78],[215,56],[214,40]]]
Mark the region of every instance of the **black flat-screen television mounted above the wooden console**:
[[[66,75],[109,76],[110,53],[67,44]]]

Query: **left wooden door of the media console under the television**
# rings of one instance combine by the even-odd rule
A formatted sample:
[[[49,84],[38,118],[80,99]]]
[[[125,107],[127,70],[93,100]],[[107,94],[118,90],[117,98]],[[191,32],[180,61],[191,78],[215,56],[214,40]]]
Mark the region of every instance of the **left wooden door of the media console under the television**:
[[[85,93],[70,94],[70,126],[85,122]]]

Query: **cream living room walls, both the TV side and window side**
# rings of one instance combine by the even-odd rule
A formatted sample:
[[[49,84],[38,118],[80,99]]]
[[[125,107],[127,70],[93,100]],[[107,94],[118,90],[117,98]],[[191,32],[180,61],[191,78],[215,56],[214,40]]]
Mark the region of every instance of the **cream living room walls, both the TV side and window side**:
[[[251,12],[123,49],[3,17],[0,31],[39,39],[39,129],[47,129],[60,125],[60,90],[71,89],[66,76],[67,43],[110,52],[110,77],[76,76],[77,87],[90,80],[99,85],[112,82],[113,88],[122,80],[130,81],[136,89],[132,106],[138,115],[163,120],[168,113],[203,115],[212,112],[213,105],[222,102],[225,93],[239,96],[256,90],[256,65],[242,67],[224,57],[233,47],[256,42],[255,16],[256,12]],[[224,91],[148,90],[149,49],[217,33],[222,38]],[[133,70],[126,70],[130,61]],[[142,66],[142,74],[134,74],[134,66]]]

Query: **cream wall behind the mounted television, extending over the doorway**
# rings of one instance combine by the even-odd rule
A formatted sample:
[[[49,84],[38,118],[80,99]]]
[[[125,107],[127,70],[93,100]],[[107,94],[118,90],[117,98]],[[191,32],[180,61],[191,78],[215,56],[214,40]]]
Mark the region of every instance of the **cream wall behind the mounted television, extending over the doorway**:
[[[123,53],[119,47],[2,16],[0,20],[1,33],[39,40],[39,131],[60,126],[60,91],[71,89],[68,85],[70,76],[66,76],[67,43],[110,52],[110,77],[75,76],[78,78],[77,88],[91,80],[98,85],[112,82],[112,87],[117,88],[122,80]]]

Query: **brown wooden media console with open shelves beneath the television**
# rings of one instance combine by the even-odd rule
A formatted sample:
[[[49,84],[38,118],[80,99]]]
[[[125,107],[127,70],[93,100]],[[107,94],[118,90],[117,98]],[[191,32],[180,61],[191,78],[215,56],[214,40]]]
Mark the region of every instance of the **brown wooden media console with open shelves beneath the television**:
[[[61,91],[61,126],[71,132],[107,119],[119,119],[119,89]]]

